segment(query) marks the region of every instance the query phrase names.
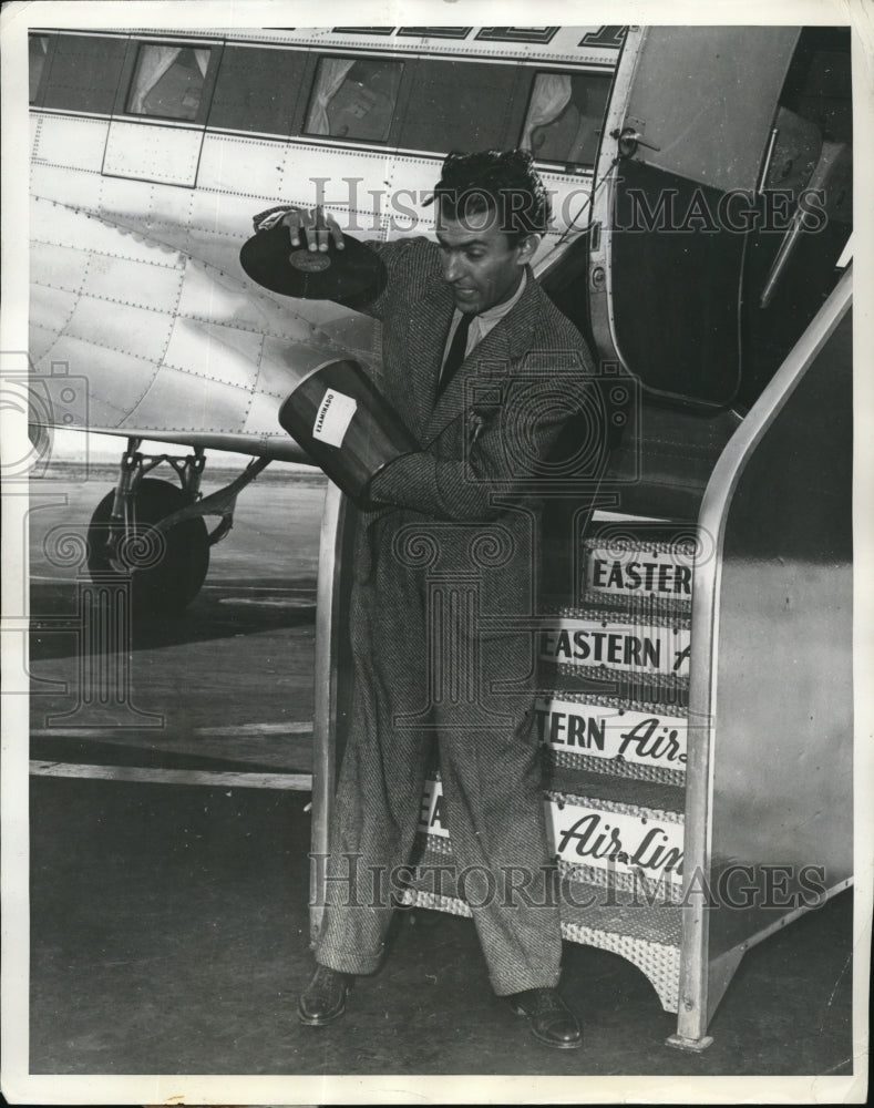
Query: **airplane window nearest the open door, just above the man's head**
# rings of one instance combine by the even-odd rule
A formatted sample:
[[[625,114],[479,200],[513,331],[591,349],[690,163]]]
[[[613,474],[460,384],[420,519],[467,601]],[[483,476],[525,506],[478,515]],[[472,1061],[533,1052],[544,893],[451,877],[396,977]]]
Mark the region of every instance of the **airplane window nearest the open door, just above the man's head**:
[[[594,165],[610,79],[595,73],[538,73],[520,146],[538,161]]]

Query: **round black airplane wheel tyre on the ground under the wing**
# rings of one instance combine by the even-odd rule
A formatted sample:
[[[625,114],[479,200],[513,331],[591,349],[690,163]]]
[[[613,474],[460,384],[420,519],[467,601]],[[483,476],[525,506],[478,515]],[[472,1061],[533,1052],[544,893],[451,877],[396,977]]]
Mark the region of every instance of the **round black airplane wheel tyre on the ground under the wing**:
[[[116,553],[106,546],[110,513],[115,494],[97,504],[88,531],[88,567],[93,579],[132,573],[132,602],[137,611],[162,614],[181,612],[199,593],[209,567],[209,535],[203,519],[185,520],[166,535],[154,531],[157,523],[188,503],[182,489],[168,481],[145,478],[133,496],[132,534],[122,538]]]

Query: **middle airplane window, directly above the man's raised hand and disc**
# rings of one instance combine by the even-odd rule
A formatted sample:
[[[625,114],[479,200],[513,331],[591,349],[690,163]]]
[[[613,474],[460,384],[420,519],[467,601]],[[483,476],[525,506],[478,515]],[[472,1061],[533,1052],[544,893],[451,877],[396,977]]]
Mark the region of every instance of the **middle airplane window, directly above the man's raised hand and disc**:
[[[307,112],[306,133],[384,142],[402,71],[403,62],[322,58]]]

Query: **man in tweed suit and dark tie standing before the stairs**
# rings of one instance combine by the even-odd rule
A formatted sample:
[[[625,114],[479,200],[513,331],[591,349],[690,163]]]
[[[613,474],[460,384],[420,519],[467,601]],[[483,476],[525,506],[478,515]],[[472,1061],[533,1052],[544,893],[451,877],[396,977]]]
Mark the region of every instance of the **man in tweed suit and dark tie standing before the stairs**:
[[[529,267],[549,217],[531,155],[451,154],[434,202],[436,243],[368,244],[387,283],[357,305],[381,320],[379,387],[421,450],[377,474],[377,507],[356,535],[349,736],[318,968],[299,1016],[312,1026],[339,1018],[352,975],[380,963],[393,903],[377,876],[410,861],[435,738],[456,876],[476,879],[464,892],[492,986],[538,1040],[568,1049],[582,1032],[556,989],[562,938],[533,712],[531,489],[592,361]],[[257,225],[279,219],[291,246],[342,248],[319,213],[286,209]],[[453,593],[462,581],[470,587]]]

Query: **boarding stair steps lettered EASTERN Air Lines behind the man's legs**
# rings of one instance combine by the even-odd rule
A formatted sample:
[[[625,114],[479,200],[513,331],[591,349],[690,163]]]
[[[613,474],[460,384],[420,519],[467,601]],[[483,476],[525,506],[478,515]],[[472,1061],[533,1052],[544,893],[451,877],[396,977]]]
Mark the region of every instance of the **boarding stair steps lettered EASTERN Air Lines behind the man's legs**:
[[[566,940],[620,954],[664,1008],[679,992],[691,581],[689,525],[609,516],[578,540],[577,604],[547,598],[535,702]],[[567,599],[567,597],[565,597]],[[457,915],[440,774],[425,784],[410,906]]]

